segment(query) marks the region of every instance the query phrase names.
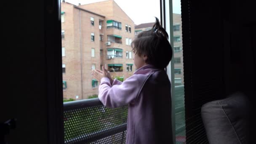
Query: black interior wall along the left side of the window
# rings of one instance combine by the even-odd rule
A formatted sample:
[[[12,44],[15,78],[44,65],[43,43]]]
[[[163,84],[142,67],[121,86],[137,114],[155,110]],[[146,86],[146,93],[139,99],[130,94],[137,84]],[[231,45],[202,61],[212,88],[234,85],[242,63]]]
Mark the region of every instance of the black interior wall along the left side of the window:
[[[2,82],[0,122],[17,118],[8,144],[47,144],[44,0],[1,3]]]

